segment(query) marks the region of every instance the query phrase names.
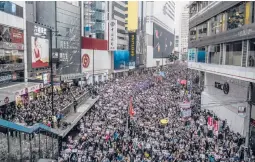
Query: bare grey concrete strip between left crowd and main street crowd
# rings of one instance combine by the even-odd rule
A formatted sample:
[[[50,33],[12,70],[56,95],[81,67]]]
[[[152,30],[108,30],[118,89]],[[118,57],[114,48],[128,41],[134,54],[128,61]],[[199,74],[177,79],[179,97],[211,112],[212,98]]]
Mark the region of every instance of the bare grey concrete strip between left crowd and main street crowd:
[[[86,114],[86,112],[96,103],[99,96],[92,99],[91,97],[87,101],[77,108],[77,112],[70,113],[66,118],[63,119],[64,122],[71,123],[66,129],[55,129],[59,136],[65,137],[70,130],[78,123],[78,121]]]

